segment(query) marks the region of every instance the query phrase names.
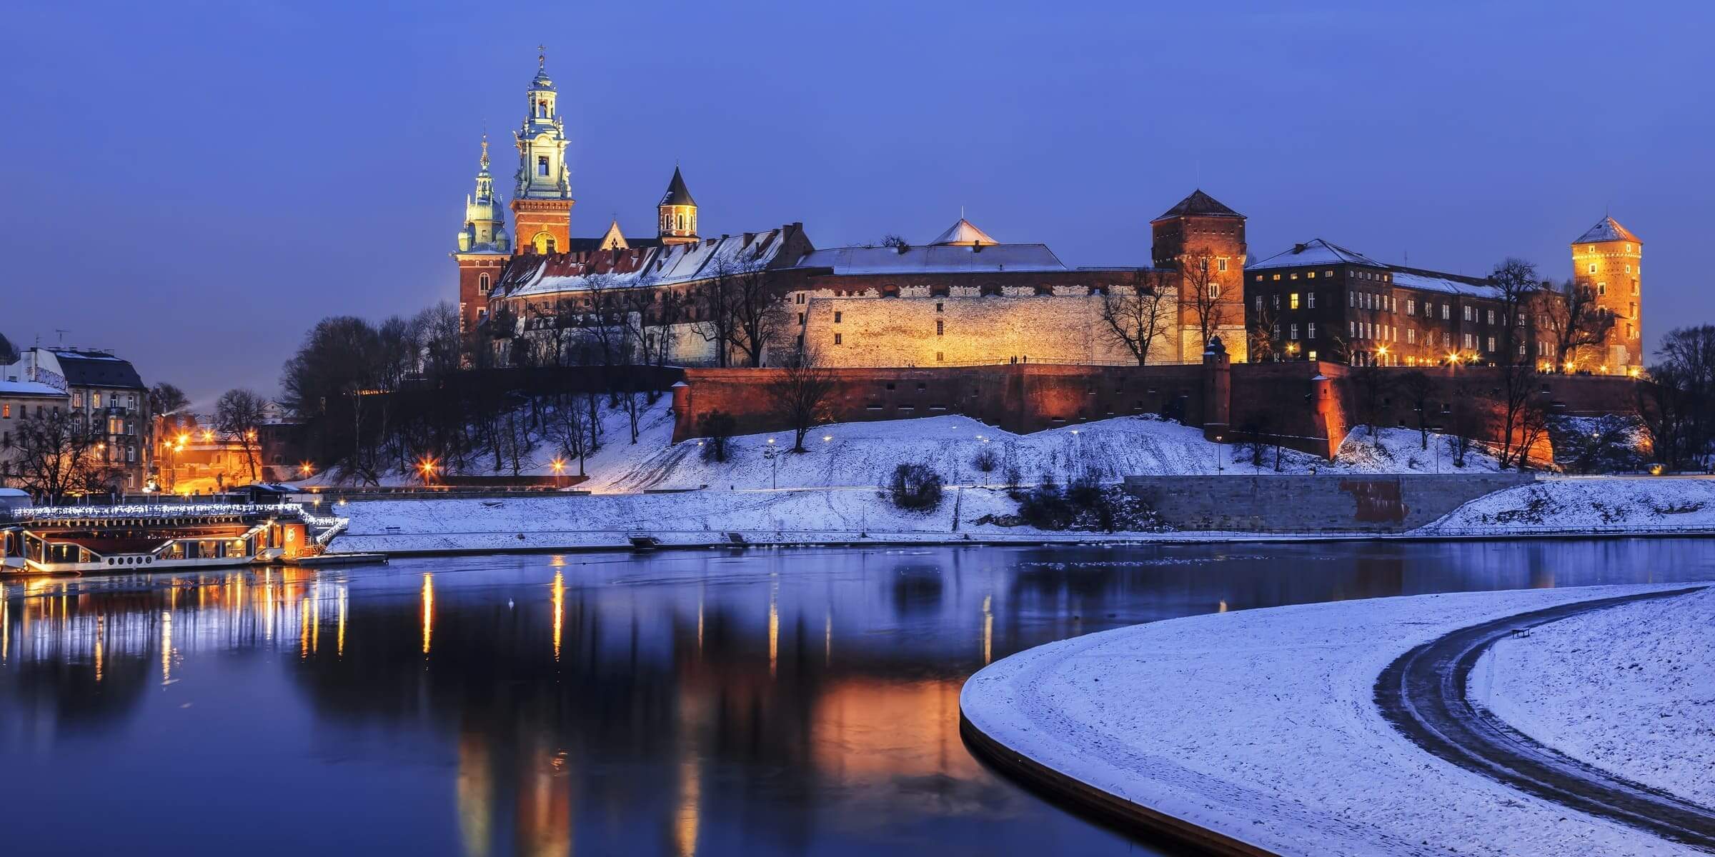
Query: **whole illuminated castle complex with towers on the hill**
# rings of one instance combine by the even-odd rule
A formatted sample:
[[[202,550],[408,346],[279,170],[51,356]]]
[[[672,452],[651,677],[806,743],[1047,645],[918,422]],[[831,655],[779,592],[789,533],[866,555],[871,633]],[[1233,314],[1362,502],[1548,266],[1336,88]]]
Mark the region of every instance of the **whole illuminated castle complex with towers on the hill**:
[[[1641,242],[1612,218],[1571,245],[1585,302],[1547,288],[1519,298],[1321,238],[1250,261],[1243,214],[1202,190],[1151,221],[1151,261],[1134,267],[1068,266],[964,218],[921,245],[816,249],[803,223],[703,237],[679,168],[653,237],[614,219],[575,238],[564,117],[542,57],[514,146],[513,231],[484,139],[453,252],[461,327],[509,365],[578,362],[592,331],[609,350],[619,331],[628,362],[688,367],[806,353],[828,367],[1195,363],[1216,336],[1235,363],[1636,375],[1643,360]],[[1585,334],[1597,341],[1571,327],[1597,327]]]

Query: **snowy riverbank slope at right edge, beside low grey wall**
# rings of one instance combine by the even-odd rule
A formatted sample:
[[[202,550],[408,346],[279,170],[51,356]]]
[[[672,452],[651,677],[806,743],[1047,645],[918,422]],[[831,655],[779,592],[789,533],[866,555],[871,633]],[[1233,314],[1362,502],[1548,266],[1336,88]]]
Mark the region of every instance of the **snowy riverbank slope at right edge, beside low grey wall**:
[[[1715,478],[1545,478],[1478,497],[1422,535],[1715,530]]]

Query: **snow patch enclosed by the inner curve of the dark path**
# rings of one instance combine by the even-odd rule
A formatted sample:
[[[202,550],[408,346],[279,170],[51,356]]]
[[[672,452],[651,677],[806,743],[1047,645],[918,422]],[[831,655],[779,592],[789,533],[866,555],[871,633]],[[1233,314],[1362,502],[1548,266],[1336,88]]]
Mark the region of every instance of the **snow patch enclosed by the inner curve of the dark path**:
[[[1634,602],[1494,644],[1471,699],[1628,780],[1715,807],[1715,590]]]

